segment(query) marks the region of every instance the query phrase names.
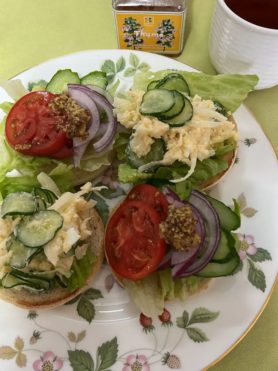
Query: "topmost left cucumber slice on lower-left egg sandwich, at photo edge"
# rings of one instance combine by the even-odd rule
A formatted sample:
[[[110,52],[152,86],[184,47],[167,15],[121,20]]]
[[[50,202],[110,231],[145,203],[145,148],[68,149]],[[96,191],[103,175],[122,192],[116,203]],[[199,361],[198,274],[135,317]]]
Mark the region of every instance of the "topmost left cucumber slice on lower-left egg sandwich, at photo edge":
[[[27,192],[13,192],[8,194],[1,206],[1,218],[7,216],[28,216],[33,215],[38,207],[36,198]]]

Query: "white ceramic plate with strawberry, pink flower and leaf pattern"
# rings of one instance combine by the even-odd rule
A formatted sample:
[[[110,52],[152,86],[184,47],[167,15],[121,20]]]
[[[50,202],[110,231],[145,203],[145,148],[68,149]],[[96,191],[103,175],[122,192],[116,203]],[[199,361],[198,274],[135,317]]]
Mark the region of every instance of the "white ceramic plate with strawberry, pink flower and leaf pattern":
[[[135,70],[196,71],[177,60],[155,54],[98,50],[50,60],[15,78],[20,78],[27,87],[29,81],[49,81],[59,69],[70,68],[84,76],[100,69],[106,59],[112,61],[106,63],[107,74],[116,72],[116,78],[120,79],[118,91],[126,91],[132,85]],[[7,99],[1,89],[0,102]],[[140,324],[139,310],[128,293],[115,283],[107,265],[102,266],[89,286],[92,289],[85,290],[84,296],[70,305],[28,313],[1,302],[0,370],[166,371],[180,368],[199,371],[221,358],[242,338],[264,308],[277,278],[278,169],[274,151],[251,113],[241,106],[234,117],[242,135],[237,161],[224,181],[211,190],[211,195],[227,205],[232,204],[232,198],[237,198],[241,205],[239,272],[216,279],[208,290],[185,303],[176,301],[165,305],[171,313],[171,321],[152,318],[149,327]],[[116,166],[117,163],[94,182],[104,182],[109,188],[102,195],[92,195],[98,198],[97,208],[104,219],[108,209],[130,187],[119,186]],[[185,323],[187,315],[189,321]],[[166,364],[165,355],[169,357],[168,362],[165,359]]]

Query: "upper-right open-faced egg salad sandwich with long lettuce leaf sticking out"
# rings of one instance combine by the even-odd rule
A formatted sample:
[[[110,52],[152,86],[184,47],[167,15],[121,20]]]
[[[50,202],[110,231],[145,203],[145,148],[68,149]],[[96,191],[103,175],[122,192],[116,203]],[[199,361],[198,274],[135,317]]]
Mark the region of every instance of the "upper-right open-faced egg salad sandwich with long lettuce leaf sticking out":
[[[182,200],[191,189],[216,184],[236,158],[240,134],[232,113],[257,82],[257,76],[137,73],[132,88],[114,99],[114,115],[132,129],[127,146],[117,149],[126,159],[119,180],[175,185]]]

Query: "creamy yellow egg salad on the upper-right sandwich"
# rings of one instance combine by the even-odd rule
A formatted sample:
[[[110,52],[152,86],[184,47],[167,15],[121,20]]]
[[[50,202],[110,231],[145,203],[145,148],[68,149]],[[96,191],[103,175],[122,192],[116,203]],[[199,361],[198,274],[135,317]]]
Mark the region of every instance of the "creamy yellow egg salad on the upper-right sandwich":
[[[198,94],[193,98],[184,94],[192,104],[192,118],[184,126],[171,127],[155,116],[140,114],[144,94],[144,91],[132,90],[128,91],[130,101],[118,97],[114,99],[114,115],[120,124],[133,129],[130,150],[138,158],[150,152],[154,138],[162,138],[166,144],[163,159],[140,166],[139,172],[157,164],[171,165],[178,160],[191,167],[188,174],[180,179],[185,180],[193,173],[197,159],[203,161],[214,156],[215,150],[224,146],[228,139],[240,139],[235,124],[217,112],[211,100],[202,99]],[[227,116],[230,115],[231,112],[228,112]]]

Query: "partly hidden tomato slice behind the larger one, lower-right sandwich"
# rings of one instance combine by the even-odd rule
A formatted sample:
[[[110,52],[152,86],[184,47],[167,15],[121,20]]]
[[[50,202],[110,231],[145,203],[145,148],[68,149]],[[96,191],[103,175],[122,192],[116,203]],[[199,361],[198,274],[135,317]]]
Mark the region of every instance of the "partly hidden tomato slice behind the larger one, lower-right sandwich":
[[[169,202],[162,192],[149,184],[138,184],[129,192],[125,201],[140,200],[151,206],[162,217],[162,220],[167,218],[167,210]]]

